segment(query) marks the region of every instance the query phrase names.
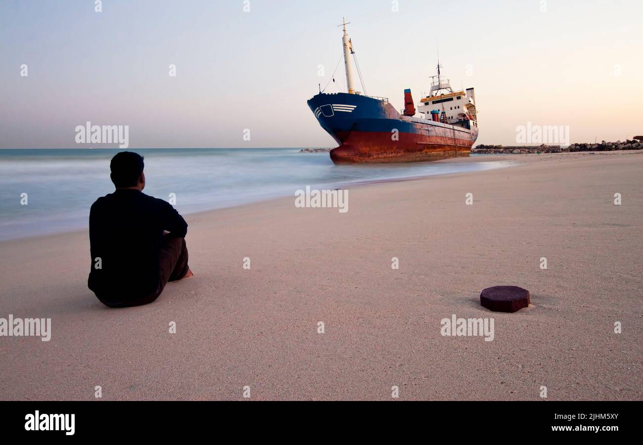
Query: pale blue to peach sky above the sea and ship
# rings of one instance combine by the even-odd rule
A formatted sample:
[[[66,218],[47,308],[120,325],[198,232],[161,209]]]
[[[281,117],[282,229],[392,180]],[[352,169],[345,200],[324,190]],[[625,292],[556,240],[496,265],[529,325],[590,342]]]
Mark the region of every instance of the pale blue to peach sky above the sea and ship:
[[[452,86],[475,87],[476,144],[511,145],[527,122],[568,125],[572,142],[643,134],[643,1],[397,5],[0,0],[0,148],[85,147],[87,121],[129,125],[132,148],[335,147],[306,100],[340,60],[343,16],[367,93],[397,109],[405,88],[428,91],[439,46]],[[328,92],[343,64],[335,78]]]

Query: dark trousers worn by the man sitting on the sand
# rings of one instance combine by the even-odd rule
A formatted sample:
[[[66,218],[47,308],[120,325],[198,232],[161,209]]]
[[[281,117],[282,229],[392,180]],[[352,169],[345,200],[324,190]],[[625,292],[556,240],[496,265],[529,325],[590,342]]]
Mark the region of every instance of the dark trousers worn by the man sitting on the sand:
[[[184,238],[163,237],[159,249],[159,286],[156,292],[133,298],[127,302],[111,302],[98,296],[98,299],[109,307],[132,307],[149,304],[161,295],[168,281],[178,281],[188,273],[188,249]]]

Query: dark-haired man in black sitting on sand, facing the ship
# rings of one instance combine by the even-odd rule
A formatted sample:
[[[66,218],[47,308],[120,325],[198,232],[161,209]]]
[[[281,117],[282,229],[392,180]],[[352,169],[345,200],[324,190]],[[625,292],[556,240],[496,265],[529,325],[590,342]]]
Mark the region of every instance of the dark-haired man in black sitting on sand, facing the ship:
[[[143,158],[116,154],[109,166],[116,191],[89,212],[91,271],[88,286],[110,307],[148,304],[168,281],[192,277],[188,224],[162,199],[143,194]]]

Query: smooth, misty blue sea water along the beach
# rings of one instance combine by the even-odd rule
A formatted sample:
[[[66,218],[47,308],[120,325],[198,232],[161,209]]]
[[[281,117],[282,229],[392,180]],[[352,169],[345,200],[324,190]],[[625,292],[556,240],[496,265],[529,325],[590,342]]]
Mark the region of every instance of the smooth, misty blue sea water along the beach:
[[[119,151],[0,149],[0,240],[87,228],[91,204],[114,190],[109,161]],[[294,197],[305,186],[349,188],[369,181],[502,167],[482,160],[336,166],[328,153],[299,149],[130,151],[145,157],[144,193],[166,201],[176,194],[176,208],[183,214]]]

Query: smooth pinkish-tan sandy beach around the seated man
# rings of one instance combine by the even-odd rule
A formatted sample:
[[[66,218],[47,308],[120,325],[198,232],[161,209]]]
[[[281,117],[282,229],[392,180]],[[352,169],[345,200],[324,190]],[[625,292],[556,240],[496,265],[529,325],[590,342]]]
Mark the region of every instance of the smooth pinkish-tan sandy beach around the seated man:
[[[188,215],[195,277],[143,307],[87,289],[86,231],[1,242],[0,316],[52,332],[0,337],[0,399],[642,399],[643,152],[485,159],[511,167],[350,188],[347,213]],[[502,284],[532,305],[481,307]],[[494,340],[442,336],[453,314]]]

